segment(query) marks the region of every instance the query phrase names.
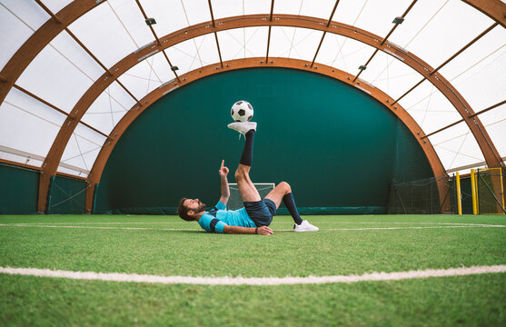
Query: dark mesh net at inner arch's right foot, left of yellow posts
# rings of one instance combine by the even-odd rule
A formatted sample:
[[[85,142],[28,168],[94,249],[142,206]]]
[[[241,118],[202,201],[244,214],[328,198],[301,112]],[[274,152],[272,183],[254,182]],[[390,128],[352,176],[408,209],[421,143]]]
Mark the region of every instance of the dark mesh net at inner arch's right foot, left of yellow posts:
[[[394,183],[389,188],[387,213],[457,213],[455,180],[428,178]]]

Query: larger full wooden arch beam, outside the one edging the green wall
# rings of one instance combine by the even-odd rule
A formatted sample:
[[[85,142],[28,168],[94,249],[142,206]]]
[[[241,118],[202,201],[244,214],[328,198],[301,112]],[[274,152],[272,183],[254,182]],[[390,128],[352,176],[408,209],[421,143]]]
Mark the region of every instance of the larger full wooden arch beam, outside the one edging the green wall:
[[[56,136],[55,142],[53,143],[48,155],[46,156],[45,163],[43,164],[44,173],[41,175],[41,181],[39,183],[38,210],[45,211],[45,198],[47,196],[50,176],[55,174],[62,154],[64,153],[64,148],[74,132],[75,127],[85,114],[86,110],[94,103],[94,100],[119,76],[124,74],[135,64],[139,64],[140,61],[146,59],[150,55],[157,54],[170,46],[177,45],[194,37],[233,28],[270,25],[303,27],[350,37],[356,41],[362,42],[363,44],[370,45],[378,50],[381,50],[386,54],[390,54],[401,60],[404,64],[408,64],[412,67],[412,69],[417,71],[419,74],[422,74],[422,76],[434,84],[434,86],[448,98],[459,114],[461,114],[461,117],[465,120],[466,124],[468,124],[471,133],[480,145],[481,152],[487,164],[490,167],[498,167],[503,164],[501,156],[492,144],[490,136],[487,134],[479,118],[477,116],[470,118],[470,115],[474,114],[471,109],[471,105],[465,101],[461,94],[459,94],[450,82],[448,82],[441,74],[431,74],[434,69],[416,55],[406,52],[404,49],[399,48],[397,45],[392,45],[389,42],[383,43],[382,38],[378,35],[373,35],[370,32],[351,25],[334,22],[331,25],[326,26],[326,20],[324,19],[299,15],[273,15],[273,21],[269,20],[269,15],[245,15],[220,19],[216,21],[215,27],[213,27],[211,22],[206,22],[199,25],[189,26],[188,28],[176,31],[170,35],[165,35],[160,39],[160,45],[154,43],[153,45],[146,46],[135,53],[125,56],[120,62],[114,64],[114,66],[109,69],[109,71],[113,73],[113,76],[108,73],[104,73],[104,75],[101,76],[86,91],[86,93],[84,93],[77,104],[75,104],[74,109],[71,112],[71,115],[74,116],[75,119],[67,119],[65,121],[60,132]],[[307,62],[307,64],[309,65],[311,62]],[[224,68],[225,67],[222,68],[221,66],[216,67],[216,69]],[[313,65],[312,68],[317,69],[317,65]],[[360,82],[360,80],[355,81],[356,84]],[[182,80],[181,83],[176,84],[184,85],[186,82]],[[147,104],[147,101],[148,100],[146,99],[141,102],[141,104]],[[383,101],[389,104],[392,103],[391,99],[385,99]],[[112,137],[114,137],[114,135],[112,135]]]

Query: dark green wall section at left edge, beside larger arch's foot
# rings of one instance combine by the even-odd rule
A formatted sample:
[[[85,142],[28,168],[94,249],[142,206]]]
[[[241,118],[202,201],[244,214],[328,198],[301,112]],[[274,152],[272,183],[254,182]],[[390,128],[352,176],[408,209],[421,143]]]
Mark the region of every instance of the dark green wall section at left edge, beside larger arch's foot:
[[[0,214],[36,213],[39,172],[0,163]]]

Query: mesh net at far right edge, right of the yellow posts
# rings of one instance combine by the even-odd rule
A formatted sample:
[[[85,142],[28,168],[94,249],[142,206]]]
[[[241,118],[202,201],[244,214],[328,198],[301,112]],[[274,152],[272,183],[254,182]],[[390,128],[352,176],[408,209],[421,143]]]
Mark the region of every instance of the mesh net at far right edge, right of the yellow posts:
[[[503,174],[501,168],[479,169],[477,171],[479,213],[504,213]]]

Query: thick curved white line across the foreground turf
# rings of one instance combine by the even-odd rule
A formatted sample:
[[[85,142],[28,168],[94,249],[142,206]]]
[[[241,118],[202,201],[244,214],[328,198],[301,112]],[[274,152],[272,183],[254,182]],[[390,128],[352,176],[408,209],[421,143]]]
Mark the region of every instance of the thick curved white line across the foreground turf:
[[[506,265],[474,266],[468,268],[429,269],[409,272],[372,272],[362,275],[308,276],[308,277],[190,277],[159,276],[116,272],[72,272],[36,268],[0,267],[0,273],[39,277],[68,278],[87,281],[107,282],[149,282],[162,284],[201,285],[292,285],[337,282],[400,281],[405,279],[464,276],[481,273],[506,272]]]

